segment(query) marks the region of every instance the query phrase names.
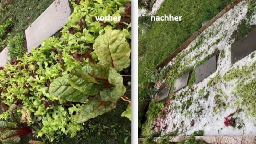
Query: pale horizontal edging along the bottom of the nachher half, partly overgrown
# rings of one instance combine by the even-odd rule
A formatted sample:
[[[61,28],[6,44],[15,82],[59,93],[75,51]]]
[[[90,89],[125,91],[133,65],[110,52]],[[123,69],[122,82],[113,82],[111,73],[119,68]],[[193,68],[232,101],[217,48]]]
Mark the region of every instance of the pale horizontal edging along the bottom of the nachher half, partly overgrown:
[[[155,142],[161,137],[153,137]],[[189,138],[189,136],[169,137],[170,142],[181,142]],[[145,138],[139,138],[138,142],[143,142]],[[227,144],[227,143],[241,143],[241,144],[255,144],[256,136],[195,136],[195,140],[202,140],[211,144]]]

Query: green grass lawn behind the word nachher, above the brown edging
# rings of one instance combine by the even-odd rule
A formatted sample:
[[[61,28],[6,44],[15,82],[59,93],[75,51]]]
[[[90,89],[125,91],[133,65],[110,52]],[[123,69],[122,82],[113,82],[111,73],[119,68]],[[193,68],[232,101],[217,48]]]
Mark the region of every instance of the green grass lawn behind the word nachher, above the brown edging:
[[[231,0],[165,0],[156,15],[182,16],[182,21],[150,22],[150,17],[139,18],[139,105],[145,98],[151,71],[197,31],[203,22],[213,18],[230,3]],[[143,30],[145,26],[146,30]]]

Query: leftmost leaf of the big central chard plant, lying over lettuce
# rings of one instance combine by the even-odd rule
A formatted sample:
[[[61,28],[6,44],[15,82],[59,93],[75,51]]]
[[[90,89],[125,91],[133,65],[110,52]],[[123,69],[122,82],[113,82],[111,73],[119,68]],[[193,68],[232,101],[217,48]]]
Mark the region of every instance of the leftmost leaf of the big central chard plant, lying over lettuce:
[[[49,88],[49,93],[58,99],[65,99],[71,102],[84,102],[88,95],[83,94],[81,91],[73,88],[69,83],[69,76],[56,78]]]

